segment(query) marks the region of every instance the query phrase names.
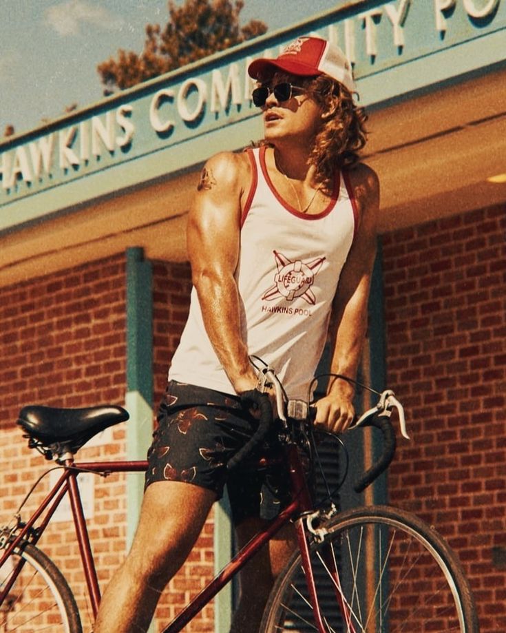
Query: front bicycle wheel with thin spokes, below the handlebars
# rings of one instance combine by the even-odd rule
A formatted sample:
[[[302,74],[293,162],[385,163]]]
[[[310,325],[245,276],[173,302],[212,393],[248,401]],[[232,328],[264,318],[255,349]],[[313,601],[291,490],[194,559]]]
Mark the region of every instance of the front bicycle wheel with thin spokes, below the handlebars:
[[[328,633],[478,633],[469,584],[447,543],[408,512],[359,508],[311,546]],[[300,554],[277,579],[262,633],[318,631]]]

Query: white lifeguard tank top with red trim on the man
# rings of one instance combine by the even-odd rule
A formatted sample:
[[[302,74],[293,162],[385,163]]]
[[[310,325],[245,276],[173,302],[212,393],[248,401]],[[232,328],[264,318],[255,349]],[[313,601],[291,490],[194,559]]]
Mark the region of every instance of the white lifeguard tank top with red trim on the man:
[[[337,172],[326,209],[317,215],[301,214],[273,187],[266,148],[246,151],[253,178],[235,271],[242,335],[249,354],[275,369],[288,397],[306,398],[357,226],[355,200],[346,174]],[[235,393],[205,331],[194,288],[169,379]]]

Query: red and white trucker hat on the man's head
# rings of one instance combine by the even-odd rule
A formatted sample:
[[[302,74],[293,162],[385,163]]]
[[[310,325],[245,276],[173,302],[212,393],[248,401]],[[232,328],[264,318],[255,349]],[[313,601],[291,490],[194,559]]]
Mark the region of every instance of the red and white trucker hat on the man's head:
[[[285,70],[291,74],[316,76],[326,74],[355,92],[355,81],[351,64],[344,52],[320,37],[299,37],[274,59],[255,59],[249,65],[248,72],[253,79],[262,79],[276,70]]]

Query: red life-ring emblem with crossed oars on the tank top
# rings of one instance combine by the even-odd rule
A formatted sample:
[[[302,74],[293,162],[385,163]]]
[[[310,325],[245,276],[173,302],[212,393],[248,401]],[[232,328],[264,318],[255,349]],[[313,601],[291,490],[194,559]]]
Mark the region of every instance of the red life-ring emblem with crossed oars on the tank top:
[[[293,301],[297,297],[302,297],[308,304],[314,306],[316,298],[311,286],[325,258],[317,257],[308,262],[291,261],[283,253],[273,252],[277,272],[274,276],[273,286],[266,291],[262,300],[271,301],[284,297],[287,301]]]

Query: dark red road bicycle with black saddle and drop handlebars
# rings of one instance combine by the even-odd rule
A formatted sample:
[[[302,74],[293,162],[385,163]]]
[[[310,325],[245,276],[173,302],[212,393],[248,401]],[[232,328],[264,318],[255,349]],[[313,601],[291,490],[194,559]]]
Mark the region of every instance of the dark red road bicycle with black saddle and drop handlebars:
[[[272,407],[265,393],[275,389],[282,460],[255,457],[255,467],[288,464],[291,502],[231,559],[200,594],[176,616],[163,633],[178,633],[251,557],[288,521],[297,532],[298,550],[279,575],[266,605],[260,631],[280,633],[478,633],[478,620],[470,585],[450,547],[434,528],[408,512],[389,506],[366,506],[339,512],[331,500],[315,507],[310,494],[308,463],[319,442],[310,420],[308,402],[287,402],[273,371],[260,368],[258,391],[248,402],[259,407],[258,432],[240,455],[229,463],[252,459],[273,424]],[[260,393],[258,393],[260,392]],[[376,392],[375,392],[376,393]],[[378,394],[376,406],[357,420],[354,428],[376,426],[383,434],[383,453],[357,481],[363,490],[383,473],[395,450],[390,422],[397,409],[401,433],[407,437],[403,408],[392,391]],[[0,631],[82,633],[80,614],[63,574],[37,542],[50,523],[61,499],[70,498],[76,538],[89,600],[96,615],[100,601],[97,574],[83,506],[77,486],[79,473],[107,476],[142,472],[146,461],[74,461],[74,455],[91,437],[108,426],[125,422],[128,413],[119,406],[56,409],[27,406],[18,424],[28,446],[55,459],[61,477],[28,520],[21,508],[12,526],[0,528]],[[263,434],[263,435],[262,435]],[[344,445],[338,439],[339,444]],[[340,482],[341,484],[342,482]],[[6,571],[7,569],[7,571]]]

